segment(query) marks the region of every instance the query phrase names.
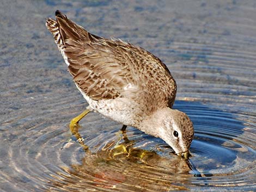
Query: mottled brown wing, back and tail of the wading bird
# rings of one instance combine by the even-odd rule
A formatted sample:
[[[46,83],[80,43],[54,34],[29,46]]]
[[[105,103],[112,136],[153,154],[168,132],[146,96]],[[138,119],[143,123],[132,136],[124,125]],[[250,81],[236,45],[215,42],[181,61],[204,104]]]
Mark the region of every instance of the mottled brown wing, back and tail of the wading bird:
[[[126,94],[132,97],[133,92],[138,94],[138,90],[150,83],[155,86],[161,76],[160,81],[175,84],[166,65],[154,55],[121,40],[90,34],[59,11],[56,21],[49,18],[46,27],[54,36],[77,86],[93,100]],[[167,86],[175,97],[176,84],[175,91]]]

